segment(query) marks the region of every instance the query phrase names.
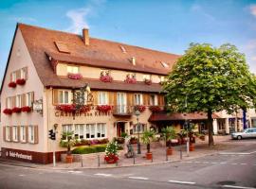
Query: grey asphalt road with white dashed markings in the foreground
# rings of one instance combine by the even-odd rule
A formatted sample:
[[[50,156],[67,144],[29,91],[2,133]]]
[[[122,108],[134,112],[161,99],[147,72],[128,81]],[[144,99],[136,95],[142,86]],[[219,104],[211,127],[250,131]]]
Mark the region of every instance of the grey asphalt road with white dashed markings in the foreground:
[[[0,188],[256,188],[255,146],[191,161],[111,169],[68,171],[0,164]]]

